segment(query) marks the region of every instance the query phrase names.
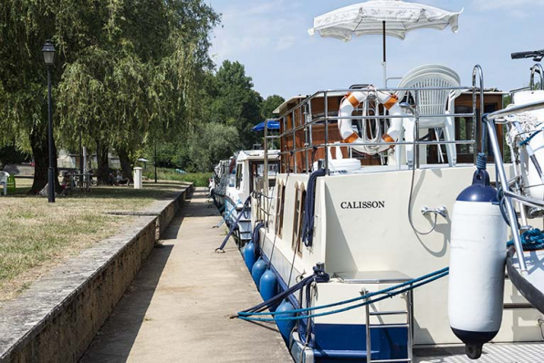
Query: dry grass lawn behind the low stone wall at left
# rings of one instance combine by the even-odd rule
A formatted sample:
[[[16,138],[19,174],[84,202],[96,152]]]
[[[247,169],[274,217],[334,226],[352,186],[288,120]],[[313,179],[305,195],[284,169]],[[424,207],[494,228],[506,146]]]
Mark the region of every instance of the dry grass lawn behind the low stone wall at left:
[[[47,197],[27,194],[31,179],[17,179],[15,194],[0,196],[0,301],[13,298],[26,285],[64,258],[116,234],[130,216],[107,211],[141,211],[156,200],[170,199],[179,191],[177,181],[144,182],[131,187],[94,187]]]

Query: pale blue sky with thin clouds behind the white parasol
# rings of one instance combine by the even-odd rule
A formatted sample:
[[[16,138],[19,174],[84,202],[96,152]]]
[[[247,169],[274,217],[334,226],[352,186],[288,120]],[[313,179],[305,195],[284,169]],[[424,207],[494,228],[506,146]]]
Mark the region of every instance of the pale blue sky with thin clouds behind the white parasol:
[[[382,85],[382,37],[348,43],[309,36],[313,18],[358,0],[207,0],[222,14],[211,55],[219,65],[239,61],[263,97],[286,99],[352,84]],[[459,30],[423,29],[401,41],[387,38],[388,77],[413,67],[442,64],[455,69],[466,86],[472,69],[484,69],[485,87],[510,90],[528,85],[531,59],[512,60],[518,51],[544,48],[544,0],[418,0],[449,11],[464,9]]]

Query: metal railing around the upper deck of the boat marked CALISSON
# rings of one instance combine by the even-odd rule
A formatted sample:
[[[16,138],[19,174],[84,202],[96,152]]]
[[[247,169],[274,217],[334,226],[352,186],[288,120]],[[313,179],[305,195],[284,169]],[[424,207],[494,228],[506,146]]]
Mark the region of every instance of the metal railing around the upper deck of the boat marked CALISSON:
[[[418,108],[419,105],[419,99],[420,95],[424,91],[440,91],[440,90],[449,90],[449,91],[469,91],[472,92],[472,100],[473,100],[473,107],[472,113],[455,113],[455,110],[449,110],[451,113],[447,114],[421,114],[420,110]],[[304,165],[302,166],[302,170],[306,171],[307,173],[311,170],[311,165],[309,165],[309,150],[319,150],[324,149],[325,150],[325,160],[324,160],[324,167],[327,171],[327,174],[330,174],[330,158],[329,158],[329,150],[331,147],[347,147],[349,150],[349,154],[352,154],[352,148],[354,146],[376,146],[378,143],[376,142],[353,142],[353,143],[331,143],[330,142],[330,135],[329,135],[329,125],[332,122],[338,122],[342,119],[340,116],[330,116],[330,109],[329,109],[329,101],[331,98],[339,98],[342,94],[346,94],[348,92],[353,92],[354,89],[348,88],[348,89],[328,89],[328,90],[321,90],[319,92],[314,93],[313,95],[309,96],[307,99],[304,99],[298,105],[293,107],[292,109],[288,109],[278,120],[282,124],[282,129],[279,132],[278,135],[275,136],[269,136],[267,135],[267,125],[265,125],[265,150],[267,150],[267,140],[271,139],[280,139],[281,140],[281,147],[282,150],[280,150],[280,164],[282,166],[285,166],[284,171],[290,171],[291,165],[290,161],[293,161],[292,169],[293,171],[299,170],[298,165],[298,154],[304,153],[305,157],[301,160],[303,161]],[[358,92],[365,92],[365,89],[357,89]],[[370,90],[366,90],[367,92],[371,92]],[[413,107],[413,115],[399,115],[399,116],[393,116],[393,115],[361,115],[361,116],[350,116],[350,120],[375,120],[376,122],[382,122],[386,119],[395,119],[395,118],[411,118],[414,119],[415,122],[415,137],[413,142],[406,142],[402,140],[397,140],[395,142],[388,142],[388,145],[391,146],[397,146],[397,145],[413,145],[414,146],[414,164],[416,168],[420,168],[419,164],[419,147],[420,146],[428,146],[428,145],[448,145],[448,144],[455,144],[455,145],[473,145],[473,155],[474,155],[474,162],[476,164],[477,159],[477,140],[476,140],[476,119],[477,119],[477,107],[476,107],[476,100],[477,95],[479,93],[480,95],[480,110],[484,111],[484,75],[482,68],[479,65],[476,65],[473,69],[472,74],[472,86],[466,86],[466,87],[455,87],[455,88],[375,88],[372,91],[375,92],[390,92],[390,93],[396,93],[399,91],[405,91],[408,95],[413,94],[413,100],[414,100],[414,107]],[[312,100],[314,99],[323,99],[323,112],[322,115],[315,116],[312,112]],[[298,116],[298,117],[297,117]],[[451,118],[472,118],[475,120],[473,122],[473,129],[472,129],[472,135],[473,138],[471,140],[454,140],[454,141],[441,141],[441,140],[434,140],[434,141],[424,141],[420,140],[420,119],[438,119],[438,118],[445,118],[445,117],[451,117]],[[291,119],[291,128],[288,129],[288,118]],[[300,124],[296,125],[296,120],[300,121]],[[384,122],[383,122],[384,123]],[[323,143],[315,144],[313,142],[313,132],[312,129],[317,124],[324,124],[324,133],[325,133],[325,140]],[[381,128],[384,129],[384,125],[381,124]],[[304,143],[301,147],[297,147],[297,133],[299,131],[304,131]],[[365,130],[366,131],[366,128]],[[292,140],[292,148],[288,149],[288,140]],[[286,156],[288,155],[288,163],[289,165],[285,165]],[[267,158],[265,158],[267,159]]]

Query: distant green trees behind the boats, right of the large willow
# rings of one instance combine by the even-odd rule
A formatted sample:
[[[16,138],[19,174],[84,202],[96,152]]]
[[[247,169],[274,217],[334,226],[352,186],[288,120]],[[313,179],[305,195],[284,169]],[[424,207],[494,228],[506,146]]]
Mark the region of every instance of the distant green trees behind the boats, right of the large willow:
[[[253,80],[238,62],[226,60],[217,72],[208,72],[202,83],[202,104],[196,128],[183,140],[167,142],[157,149],[157,163],[185,171],[211,171],[220,160],[236,150],[262,143],[262,133],[251,129],[274,116],[273,110],[284,102],[277,95],[263,99]],[[153,149],[147,157],[153,158]],[[150,159],[150,160],[151,160]]]

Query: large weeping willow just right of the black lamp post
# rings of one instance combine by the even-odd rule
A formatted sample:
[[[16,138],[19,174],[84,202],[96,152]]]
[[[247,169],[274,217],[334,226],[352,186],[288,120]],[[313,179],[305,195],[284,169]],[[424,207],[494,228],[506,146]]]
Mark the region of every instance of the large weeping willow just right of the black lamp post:
[[[97,45],[82,49],[60,85],[65,138],[73,120],[97,145],[98,179],[108,178],[108,151],[121,169],[147,142],[180,137],[194,119],[198,81],[210,67],[208,36],[218,16],[201,0],[119,2]]]

